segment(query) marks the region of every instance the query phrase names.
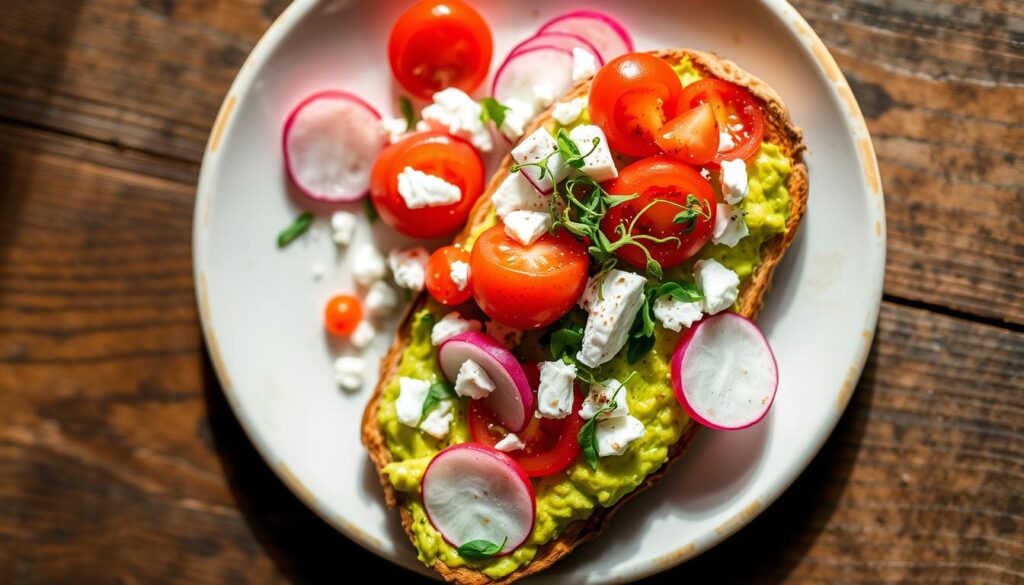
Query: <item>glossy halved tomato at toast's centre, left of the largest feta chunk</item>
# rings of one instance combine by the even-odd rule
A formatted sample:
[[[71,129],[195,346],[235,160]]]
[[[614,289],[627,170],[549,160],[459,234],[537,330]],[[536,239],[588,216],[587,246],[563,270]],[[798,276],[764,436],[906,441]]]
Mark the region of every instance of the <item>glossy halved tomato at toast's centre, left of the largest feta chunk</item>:
[[[501,223],[473,244],[473,298],[495,321],[537,329],[565,315],[587,282],[587,247],[562,232],[523,246]]]

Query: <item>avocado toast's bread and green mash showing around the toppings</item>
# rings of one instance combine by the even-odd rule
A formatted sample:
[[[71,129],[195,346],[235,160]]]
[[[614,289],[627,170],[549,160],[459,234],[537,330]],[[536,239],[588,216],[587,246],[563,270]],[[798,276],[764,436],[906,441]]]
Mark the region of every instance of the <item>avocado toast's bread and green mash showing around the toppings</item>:
[[[748,163],[752,168],[752,184],[761,181],[752,193],[757,192],[758,197],[763,198],[762,207],[774,211],[776,219],[781,217],[782,221],[774,226],[752,225],[745,248],[723,249],[721,254],[714,256],[740,276],[733,310],[756,318],[770,287],[772,273],[793,241],[806,209],[808,182],[802,160],[805,148],[802,132],[793,124],[774,90],[735,64],[690,49],[652,54],[673,66],[684,85],[694,78],[725,80],[746,88],[763,110],[763,152],[755,162]],[[587,96],[590,87],[590,81],[581,82],[559,101]],[[552,125],[553,110],[554,107],[542,113],[526,134]],[[514,161],[507,156],[456,243],[471,246],[473,240],[496,221],[490,196],[499,190],[513,165]],[[752,200],[751,205],[754,204]],[[620,378],[626,369],[638,372],[638,380],[630,390],[630,410],[647,425],[643,440],[618,458],[601,459],[597,468],[588,466],[581,457],[581,461],[565,473],[535,480],[538,513],[530,540],[510,555],[474,560],[462,558],[440,538],[424,513],[419,493],[425,461],[449,444],[470,441],[465,428],[466,409],[456,407],[452,433],[439,442],[424,437],[415,429],[402,428],[394,420],[397,378],[416,374],[430,377],[438,373],[434,365],[435,350],[425,328],[446,310],[429,300],[425,293],[411,304],[381,364],[380,383],[367,405],[362,443],[381,473],[385,500],[389,506],[399,508],[402,526],[419,549],[421,560],[447,581],[509,583],[543,571],[580,543],[597,537],[620,506],[660,478],[669,465],[682,456],[698,425],[676,403],[668,380],[668,357],[680,334],[658,330],[653,350],[647,358],[630,366],[625,359],[612,360],[602,370],[602,374]]]

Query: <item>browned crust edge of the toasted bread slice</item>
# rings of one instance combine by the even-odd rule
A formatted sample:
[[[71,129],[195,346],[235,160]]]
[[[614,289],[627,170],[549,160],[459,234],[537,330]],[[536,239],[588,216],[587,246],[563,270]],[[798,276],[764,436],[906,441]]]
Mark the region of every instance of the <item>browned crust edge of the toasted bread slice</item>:
[[[796,236],[797,226],[800,224],[807,208],[807,167],[803,163],[803,133],[800,128],[793,124],[790,114],[783,106],[778,94],[766,83],[753,75],[746,73],[734,62],[723,59],[717,55],[695,51],[691,49],[673,49],[655,51],[654,55],[665,59],[670,64],[678,64],[684,58],[689,58],[703,76],[716,77],[726,81],[731,81],[746,87],[751,93],[757,97],[765,112],[765,140],[777,144],[782,153],[790,158],[792,172],[786,183],[791,197],[790,218],[786,223],[786,232],[772,238],[764,243],[761,250],[761,264],[754,274],[743,283],[737,300],[738,311],[746,317],[755,318],[761,310],[765,293],[771,285],[772,273],[778,265],[783,253],[793,242]],[[590,82],[585,81],[577,85],[567,96],[578,97],[587,95],[590,91]],[[526,129],[526,134],[546,123],[551,117],[551,110],[541,114],[534,124]],[[512,165],[511,157],[505,157],[501,167],[490,179],[486,191],[480,197],[473,211],[470,213],[466,227],[456,238],[456,242],[464,242],[473,227],[481,221],[486,220],[492,211],[490,194],[495,192],[502,179],[508,174]],[[413,315],[426,304],[426,293],[422,293],[410,306],[402,320],[401,326],[395,336],[394,344],[381,363],[380,383],[374,391],[367,410],[362,417],[362,443],[370,453],[370,458],[381,471],[387,463],[391,461],[391,455],[387,448],[387,443],[377,420],[377,412],[380,408],[380,401],[384,394],[384,387],[398,370],[406,346],[410,342],[411,321]],[[572,551],[581,543],[596,538],[607,526],[611,515],[622,507],[627,500],[640,493],[645,488],[658,480],[667,472],[669,465],[679,460],[686,447],[694,436],[697,425],[692,421],[683,430],[679,441],[670,449],[669,459],[660,468],[647,476],[644,483],[629,495],[608,508],[598,507],[587,519],[569,525],[557,538],[551,540],[540,548],[537,555],[529,563],[520,567],[515,572],[498,580],[493,580],[486,575],[474,571],[470,568],[452,568],[440,559],[434,561],[434,569],[446,580],[462,585],[483,585],[487,583],[511,583],[528,575],[544,571],[559,558]],[[388,478],[382,473],[381,485],[384,488],[385,500],[389,506],[402,503],[402,494],[397,492]],[[412,515],[406,506],[399,507],[401,512],[402,527],[406,533],[413,539],[411,530]]]

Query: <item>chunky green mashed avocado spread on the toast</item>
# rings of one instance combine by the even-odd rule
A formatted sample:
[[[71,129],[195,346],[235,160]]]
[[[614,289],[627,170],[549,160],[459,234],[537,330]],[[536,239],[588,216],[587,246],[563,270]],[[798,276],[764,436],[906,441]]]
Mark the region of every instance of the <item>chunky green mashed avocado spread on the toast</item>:
[[[675,69],[684,86],[700,78],[688,60]],[[772,236],[785,232],[790,214],[790,194],[785,182],[790,170],[788,159],[779,148],[763,143],[757,158],[748,164],[750,191],[739,204],[750,234],[733,248],[708,246],[701,256],[719,260],[740,279],[750,277],[761,260],[761,245]],[[406,505],[413,516],[412,532],[419,558],[428,566],[440,558],[450,567],[469,566],[493,579],[512,573],[529,562],[542,545],[556,538],[569,524],[588,517],[597,506],[611,506],[635,490],[668,460],[669,449],[682,434],[687,416],[673,393],[669,370],[679,334],[658,328],[653,349],[640,362],[628,364],[626,352],[621,351],[599,370],[600,376],[617,380],[636,372],[628,384],[627,398],[630,414],[644,424],[643,437],[618,457],[599,459],[597,469],[592,469],[581,457],[563,473],[535,479],[537,520],[529,539],[507,556],[486,560],[463,558],[430,525],[420,500],[419,488],[427,463],[434,454],[450,445],[470,441],[466,400],[456,401],[451,433],[443,441],[401,424],[395,412],[399,377],[431,381],[443,379],[430,342],[430,330],[436,318],[429,310],[416,317],[398,375],[385,388],[378,413],[393,460],[384,472],[394,488],[407,495]]]

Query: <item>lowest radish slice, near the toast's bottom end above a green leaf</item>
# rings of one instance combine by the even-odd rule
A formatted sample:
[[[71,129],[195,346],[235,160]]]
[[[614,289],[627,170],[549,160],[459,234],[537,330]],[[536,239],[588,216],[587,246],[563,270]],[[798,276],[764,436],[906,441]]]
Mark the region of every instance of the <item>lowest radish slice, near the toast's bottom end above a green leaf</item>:
[[[485,540],[501,546],[496,556],[526,542],[537,516],[526,472],[479,443],[454,445],[434,456],[423,473],[423,507],[449,544]]]

